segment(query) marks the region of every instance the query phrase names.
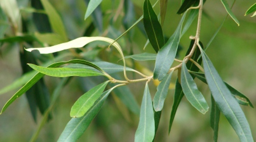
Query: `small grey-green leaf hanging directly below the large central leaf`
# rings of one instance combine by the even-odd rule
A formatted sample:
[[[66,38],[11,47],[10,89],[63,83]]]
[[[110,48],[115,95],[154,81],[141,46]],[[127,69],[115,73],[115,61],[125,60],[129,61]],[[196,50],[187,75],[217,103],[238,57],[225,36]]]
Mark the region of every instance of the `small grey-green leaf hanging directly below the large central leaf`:
[[[161,111],[163,109],[163,103],[168,93],[169,85],[171,82],[172,72],[167,74],[160,84],[157,86],[157,92],[155,93],[153,104],[155,111]]]

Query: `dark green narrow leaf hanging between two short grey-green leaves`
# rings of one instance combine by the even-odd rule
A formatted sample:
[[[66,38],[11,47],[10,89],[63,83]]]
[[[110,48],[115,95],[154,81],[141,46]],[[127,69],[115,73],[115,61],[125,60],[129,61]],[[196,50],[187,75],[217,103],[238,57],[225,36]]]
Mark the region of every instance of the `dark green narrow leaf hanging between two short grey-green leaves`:
[[[174,92],[174,99],[173,99],[173,106],[172,106],[172,112],[170,116],[170,122],[169,122],[169,134],[172,128],[173,120],[176,114],[176,111],[178,109],[178,106],[180,104],[181,99],[183,98],[184,93],[182,91],[181,84],[178,82],[178,79],[176,80],[175,85],[175,92]]]

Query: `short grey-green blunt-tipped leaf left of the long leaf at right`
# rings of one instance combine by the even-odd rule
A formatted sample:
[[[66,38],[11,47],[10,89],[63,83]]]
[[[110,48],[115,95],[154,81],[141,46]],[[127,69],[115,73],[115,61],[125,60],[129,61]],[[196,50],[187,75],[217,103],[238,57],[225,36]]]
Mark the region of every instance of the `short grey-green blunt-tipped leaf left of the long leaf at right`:
[[[208,111],[209,106],[202,93],[197,89],[196,83],[189,74],[184,61],[181,67],[181,86],[186,98],[192,106],[202,114],[205,114]]]

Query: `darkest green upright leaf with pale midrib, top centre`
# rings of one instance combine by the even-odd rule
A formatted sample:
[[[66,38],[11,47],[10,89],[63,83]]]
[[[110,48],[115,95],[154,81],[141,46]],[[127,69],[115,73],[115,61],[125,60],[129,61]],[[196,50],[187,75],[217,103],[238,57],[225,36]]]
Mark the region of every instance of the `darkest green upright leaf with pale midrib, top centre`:
[[[158,52],[164,44],[163,31],[150,0],[144,1],[143,16],[144,28],[147,33],[148,40],[155,52]]]

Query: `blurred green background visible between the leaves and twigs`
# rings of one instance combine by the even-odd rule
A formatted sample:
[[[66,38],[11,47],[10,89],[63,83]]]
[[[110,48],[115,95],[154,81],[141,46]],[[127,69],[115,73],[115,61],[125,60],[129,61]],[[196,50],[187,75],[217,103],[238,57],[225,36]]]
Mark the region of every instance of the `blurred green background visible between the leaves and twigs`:
[[[109,36],[106,29],[109,25],[117,31],[112,31],[112,35],[120,35],[125,29],[120,24],[124,16],[123,9],[118,10],[118,6],[123,0],[103,0],[101,10],[103,14],[103,32],[95,30],[91,36]],[[17,0],[19,8],[25,9],[30,7],[29,0]],[[135,19],[142,15],[143,0],[132,0],[134,4]],[[152,0],[151,3],[154,3]],[[228,0],[229,5],[232,0]],[[86,12],[85,0],[52,0],[50,3],[56,8],[63,20],[65,29],[69,39],[75,39],[83,35],[92,21],[89,17],[84,21],[84,13]],[[177,27],[181,16],[176,12],[180,7],[180,0],[169,0],[163,32],[165,36],[170,37]],[[240,21],[240,26],[227,17],[223,27],[219,31],[216,38],[211,43],[206,51],[207,55],[212,60],[219,74],[227,83],[245,94],[256,106],[256,17],[244,16],[246,10],[253,4],[253,1],[236,0],[232,11]],[[156,6],[155,11],[159,11]],[[119,13],[118,13],[119,12]],[[115,15],[117,15],[115,17]],[[22,16],[25,19],[30,19],[31,12],[22,10]],[[204,15],[202,17],[202,29],[200,40],[206,46],[219,25],[226,16],[225,8],[220,0],[207,0],[204,4]],[[116,18],[116,19],[114,19]],[[114,19],[114,20],[113,20]],[[111,21],[111,22],[110,22]],[[44,23],[42,23],[44,24]],[[181,38],[180,44],[182,50],[179,52],[178,59],[182,59],[187,51],[190,43],[189,36],[195,35],[196,20],[193,22],[189,30]],[[33,27],[33,23],[28,25]],[[0,24],[1,26],[1,24]],[[110,32],[110,30],[108,30]],[[119,33],[120,32],[120,33]],[[114,33],[114,34],[113,34]],[[6,36],[12,35],[11,29],[7,30]],[[112,36],[110,38],[116,38]],[[130,41],[126,38],[119,40],[124,54],[128,55],[132,47],[136,54],[142,52],[154,53],[153,48],[148,45],[143,50],[146,43],[146,37],[138,27],[135,27]],[[4,38],[4,37],[2,37]],[[132,42],[131,42],[132,41]],[[38,47],[38,45],[37,45]],[[127,50],[125,50],[127,49]],[[19,59],[19,43],[1,43],[0,47],[0,88],[7,86],[18,79],[22,75],[22,68]],[[119,56],[114,50],[100,51],[98,56],[105,61],[117,63]],[[66,60],[66,59],[65,59]],[[134,64],[132,60],[127,59],[128,65]],[[120,63],[120,62],[118,62]],[[120,63],[121,64],[121,63]],[[140,67],[147,67],[151,71],[154,69],[154,62],[137,62]],[[143,65],[143,67],[141,67]],[[133,77],[133,74],[129,74]],[[138,77],[138,76],[135,76]],[[177,72],[174,72],[172,83],[175,82]],[[69,116],[72,104],[84,93],[86,84],[84,79],[74,77],[69,80],[67,86],[61,90],[61,95],[54,106],[53,118],[46,123],[42,131],[39,133],[38,142],[54,142],[57,141],[65,125],[71,119]],[[95,78],[89,78],[95,79]],[[97,79],[97,78],[96,78]],[[56,84],[60,82],[59,78],[45,76],[46,86],[49,88],[50,94],[53,92]],[[206,84],[196,79],[197,86],[202,94],[207,99],[210,105],[210,91]],[[144,90],[144,83],[136,83],[129,85],[138,104],[140,105]],[[0,107],[11,98],[18,89],[6,92],[0,95]],[[156,86],[151,82],[150,91],[153,94],[156,91]],[[156,134],[155,141],[157,142],[208,142],[212,141],[213,131],[210,127],[210,111],[205,115],[199,113],[194,107],[189,104],[184,97],[178,107],[176,117],[173,122],[172,130],[168,134],[169,117],[173,102],[174,89],[169,90],[165,105],[162,111],[162,117],[159,124],[159,129]],[[244,110],[246,118],[251,126],[252,135],[256,139],[256,111],[249,106],[241,106]],[[128,114],[128,116],[126,115]],[[37,123],[40,122],[41,114],[38,112]],[[124,113],[122,108],[114,101],[114,96],[110,95],[103,104],[102,109],[94,118],[89,128],[79,139],[80,142],[132,142],[134,134],[138,126],[138,115],[131,112]],[[37,123],[34,122],[31,116],[29,104],[26,96],[18,98],[8,109],[0,115],[0,142],[27,142],[32,137],[37,129]],[[226,118],[221,114],[219,123],[219,142],[238,142],[239,138],[235,131],[227,122]]]

